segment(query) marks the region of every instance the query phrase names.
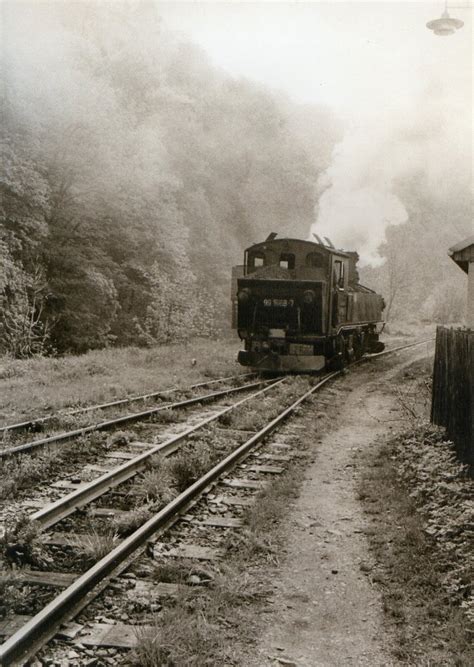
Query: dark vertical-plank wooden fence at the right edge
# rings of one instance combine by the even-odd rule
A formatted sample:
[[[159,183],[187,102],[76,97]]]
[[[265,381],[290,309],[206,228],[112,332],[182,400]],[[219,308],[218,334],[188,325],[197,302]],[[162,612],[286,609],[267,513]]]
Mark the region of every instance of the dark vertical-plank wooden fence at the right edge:
[[[461,461],[474,465],[474,331],[436,330],[431,421],[444,426]]]

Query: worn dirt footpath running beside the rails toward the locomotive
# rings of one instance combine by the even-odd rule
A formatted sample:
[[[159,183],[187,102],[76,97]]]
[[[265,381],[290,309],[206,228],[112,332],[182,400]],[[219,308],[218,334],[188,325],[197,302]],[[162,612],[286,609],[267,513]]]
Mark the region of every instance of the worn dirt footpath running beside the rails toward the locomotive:
[[[394,378],[423,354],[407,351],[382,372],[359,367],[331,390],[341,403],[339,423],[312,444],[314,462],[291,511],[273,612],[252,667],[397,664],[370,581],[356,454],[403,427]]]

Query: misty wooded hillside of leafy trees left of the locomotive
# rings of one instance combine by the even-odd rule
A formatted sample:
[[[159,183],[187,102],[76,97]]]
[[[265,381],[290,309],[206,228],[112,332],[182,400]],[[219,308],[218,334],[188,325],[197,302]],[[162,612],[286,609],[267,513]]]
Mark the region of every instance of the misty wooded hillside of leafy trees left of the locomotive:
[[[228,326],[231,265],[307,234],[336,126],[215,69],[152,6],[47,7],[6,31],[0,352]]]

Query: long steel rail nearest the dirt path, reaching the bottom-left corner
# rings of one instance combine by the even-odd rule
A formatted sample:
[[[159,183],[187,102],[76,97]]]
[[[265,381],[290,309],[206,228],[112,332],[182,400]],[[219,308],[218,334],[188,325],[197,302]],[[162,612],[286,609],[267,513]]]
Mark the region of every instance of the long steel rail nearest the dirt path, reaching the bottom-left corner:
[[[64,616],[71,607],[88,595],[101,580],[110,576],[134,551],[139,549],[160,528],[166,527],[170,520],[182,512],[207,486],[214,482],[223,473],[234,466],[239,459],[243,458],[256,444],[268,436],[281,422],[283,422],[294,410],[307,400],[317,389],[326,384],[330,379],[340,375],[341,371],[334,371],[325,376],[303,396],[292,405],[281,412],[275,419],[253,435],[249,440],[240,445],[231,454],[209,470],[203,477],[194,482],[185,491],[174,498],[166,507],[161,509],[155,516],[144,523],[138,530],[127,537],[107,556],[98,561],[87,572],[82,574],[67,589],[60,593],[36,616],[31,618],[20,630],[7,639],[0,646],[0,663],[4,667],[10,665],[21,665],[31,658],[39,648],[56,633],[57,628],[63,622]],[[279,380],[277,382],[282,382]]]

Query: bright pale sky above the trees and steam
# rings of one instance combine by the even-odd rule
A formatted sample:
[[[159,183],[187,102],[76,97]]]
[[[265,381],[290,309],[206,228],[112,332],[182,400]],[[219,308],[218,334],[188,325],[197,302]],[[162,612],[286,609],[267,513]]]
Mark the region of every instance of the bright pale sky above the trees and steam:
[[[367,102],[412,98],[433,69],[470,79],[470,10],[465,26],[436,37],[425,24],[442,3],[158,2],[170,28],[190,35],[234,76],[326,104],[351,117]],[[461,4],[457,2],[456,4]]]

